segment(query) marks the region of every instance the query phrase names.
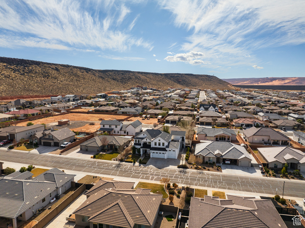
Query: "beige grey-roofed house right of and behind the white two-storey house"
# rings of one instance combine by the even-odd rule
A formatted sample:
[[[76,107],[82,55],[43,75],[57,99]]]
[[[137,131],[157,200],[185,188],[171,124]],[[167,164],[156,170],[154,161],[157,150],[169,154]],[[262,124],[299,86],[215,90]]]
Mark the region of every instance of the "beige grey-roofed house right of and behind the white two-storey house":
[[[198,127],[197,129],[197,140],[231,142],[231,140],[236,140],[236,136],[234,130],[227,128]]]

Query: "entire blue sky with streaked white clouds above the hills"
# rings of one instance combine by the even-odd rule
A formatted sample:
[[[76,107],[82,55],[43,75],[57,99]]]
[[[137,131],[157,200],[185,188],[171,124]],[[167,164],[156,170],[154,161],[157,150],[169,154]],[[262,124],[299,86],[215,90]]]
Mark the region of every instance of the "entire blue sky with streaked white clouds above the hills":
[[[0,0],[0,56],[94,69],[303,77],[304,0]]]

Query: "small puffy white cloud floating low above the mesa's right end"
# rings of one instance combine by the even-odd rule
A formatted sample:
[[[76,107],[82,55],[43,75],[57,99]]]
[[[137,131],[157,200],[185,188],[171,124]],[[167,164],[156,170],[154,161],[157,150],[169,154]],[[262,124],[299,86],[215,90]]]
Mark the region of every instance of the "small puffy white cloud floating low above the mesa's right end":
[[[180,53],[180,54],[175,54],[173,55],[169,55],[166,58],[164,58],[165,60],[169,61],[169,62],[185,62],[185,63],[189,63],[189,64],[210,64],[208,62],[205,62],[203,60],[201,60],[200,58],[203,58],[204,54],[202,52],[197,52],[197,51],[190,51],[188,53]]]

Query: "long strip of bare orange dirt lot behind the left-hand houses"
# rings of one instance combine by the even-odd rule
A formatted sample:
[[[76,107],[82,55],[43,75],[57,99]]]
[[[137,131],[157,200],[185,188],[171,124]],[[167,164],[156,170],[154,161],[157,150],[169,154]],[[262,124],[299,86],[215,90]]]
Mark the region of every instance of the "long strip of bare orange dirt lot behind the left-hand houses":
[[[68,119],[71,121],[100,121],[103,120],[114,120],[114,119],[123,119],[127,116],[118,116],[118,115],[103,115],[103,114],[81,114],[81,113],[69,113],[61,116],[54,116],[48,118],[42,118],[39,120],[31,121],[33,124],[48,124],[62,119]],[[156,119],[155,119],[156,120]],[[17,126],[26,126],[27,122],[19,123]],[[93,125],[94,126],[94,125]]]

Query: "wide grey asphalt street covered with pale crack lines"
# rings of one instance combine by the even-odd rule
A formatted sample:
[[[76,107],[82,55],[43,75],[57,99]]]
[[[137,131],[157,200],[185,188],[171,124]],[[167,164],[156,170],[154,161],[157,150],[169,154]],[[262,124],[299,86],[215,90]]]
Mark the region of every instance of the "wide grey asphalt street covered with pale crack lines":
[[[94,174],[131,177],[143,180],[160,181],[169,177],[177,184],[191,184],[207,188],[222,188],[265,194],[282,193],[283,180],[272,180],[266,177],[238,177],[223,174],[210,174],[197,171],[158,169],[155,167],[132,166],[121,163],[110,163],[97,160],[81,160],[64,156],[3,151],[0,149],[0,160],[16,163],[33,164],[45,167],[84,171]],[[286,181],[284,195],[304,197],[305,182]]]

